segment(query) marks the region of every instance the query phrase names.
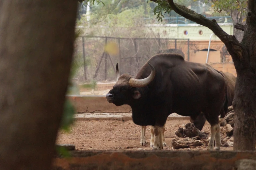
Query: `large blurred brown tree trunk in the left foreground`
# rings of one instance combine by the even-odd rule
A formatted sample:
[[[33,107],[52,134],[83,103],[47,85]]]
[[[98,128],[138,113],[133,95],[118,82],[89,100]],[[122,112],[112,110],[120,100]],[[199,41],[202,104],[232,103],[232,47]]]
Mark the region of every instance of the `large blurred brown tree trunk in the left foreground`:
[[[71,0],[0,0],[1,170],[50,168],[76,7]]]

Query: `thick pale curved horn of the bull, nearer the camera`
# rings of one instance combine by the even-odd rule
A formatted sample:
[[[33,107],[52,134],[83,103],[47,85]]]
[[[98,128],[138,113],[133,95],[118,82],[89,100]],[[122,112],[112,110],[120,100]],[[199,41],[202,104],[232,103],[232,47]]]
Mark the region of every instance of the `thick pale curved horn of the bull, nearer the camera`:
[[[149,66],[151,67],[151,73],[150,73],[149,77],[143,78],[143,79],[130,78],[130,80],[129,80],[130,86],[132,86],[132,87],[144,87],[144,86],[148,85],[154,79],[155,69],[151,64],[149,64]]]

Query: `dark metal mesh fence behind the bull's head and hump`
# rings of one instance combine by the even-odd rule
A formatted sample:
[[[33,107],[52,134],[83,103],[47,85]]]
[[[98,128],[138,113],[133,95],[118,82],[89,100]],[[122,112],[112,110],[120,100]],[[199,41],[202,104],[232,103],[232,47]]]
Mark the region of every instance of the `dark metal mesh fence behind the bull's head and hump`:
[[[104,51],[108,42],[119,47],[116,55]],[[179,53],[189,61],[189,39],[79,37],[75,49],[75,60],[81,63],[75,75],[79,82],[115,81],[116,63],[120,74],[135,77],[138,70],[158,53]]]

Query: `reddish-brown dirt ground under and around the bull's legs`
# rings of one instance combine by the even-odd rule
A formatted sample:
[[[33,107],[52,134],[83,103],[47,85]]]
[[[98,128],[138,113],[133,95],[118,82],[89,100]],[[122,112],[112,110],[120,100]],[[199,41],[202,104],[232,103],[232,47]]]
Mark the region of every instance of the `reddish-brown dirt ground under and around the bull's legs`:
[[[173,150],[171,140],[176,138],[175,132],[179,127],[185,126],[189,120],[167,120],[165,130],[165,140],[167,147],[164,149]],[[210,132],[208,122],[204,125],[202,131]],[[140,126],[130,121],[115,120],[91,120],[75,121],[71,131],[59,132],[57,135],[57,144],[74,144],[76,150],[151,150],[150,148],[150,129],[146,128],[146,146],[140,146]],[[206,149],[206,146],[199,146],[191,150]],[[181,150],[181,149],[180,149]],[[190,150],[182,149],[182,150]],[[223,148],[221,150],[232,150],[232,148]]]

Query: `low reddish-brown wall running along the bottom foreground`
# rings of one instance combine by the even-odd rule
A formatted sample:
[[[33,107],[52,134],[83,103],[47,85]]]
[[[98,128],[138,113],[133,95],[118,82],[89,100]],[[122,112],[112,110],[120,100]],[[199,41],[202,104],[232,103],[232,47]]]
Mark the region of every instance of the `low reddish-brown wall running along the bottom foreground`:
[[[255,151],[71,151],[57,157],[54,170],[240,170],[254,165]],[[246,168],[251,170],[251,168]]]

